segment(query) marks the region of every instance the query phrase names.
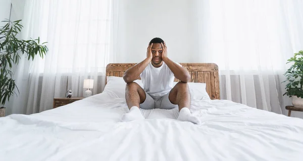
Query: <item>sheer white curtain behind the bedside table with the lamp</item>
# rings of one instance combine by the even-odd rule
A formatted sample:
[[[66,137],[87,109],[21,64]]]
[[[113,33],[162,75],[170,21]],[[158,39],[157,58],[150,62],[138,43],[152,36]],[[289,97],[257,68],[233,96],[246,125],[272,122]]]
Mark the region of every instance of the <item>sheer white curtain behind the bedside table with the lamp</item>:
[[[25,2],[23,38],[47,41],[46,57],[23,59],[15,79],[20,94],[11,113],[52,109],[53,98],[83,95],[83,80],[94,79],[93,94],[103,90],[105,67],[113,62],[112,0],[29,0]],[[8,111],[10,113],[10,110]]]

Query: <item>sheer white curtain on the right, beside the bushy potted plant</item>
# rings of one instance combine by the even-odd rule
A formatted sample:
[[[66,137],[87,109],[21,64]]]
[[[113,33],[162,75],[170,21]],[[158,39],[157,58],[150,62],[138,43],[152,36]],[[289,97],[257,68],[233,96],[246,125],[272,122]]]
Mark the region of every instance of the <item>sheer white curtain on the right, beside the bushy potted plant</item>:
[[[284,113],[290,102],[281,96],[282,74],[286,60],[303,49],[303,1],[196,3],[200,60],[218,64],[221,98]]]

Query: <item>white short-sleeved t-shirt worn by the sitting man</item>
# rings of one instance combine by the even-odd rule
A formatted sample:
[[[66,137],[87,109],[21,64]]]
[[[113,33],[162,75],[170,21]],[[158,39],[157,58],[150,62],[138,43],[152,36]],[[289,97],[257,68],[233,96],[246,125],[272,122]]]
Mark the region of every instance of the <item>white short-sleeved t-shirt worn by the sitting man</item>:
[[[180,64],[178,65],[181,66]],[[164,62],[159,68],[155,68],[149,63],[140,74],[140,77],[144,91],[151,96],[164,96],[170,92],[175,79],[173,72]]]

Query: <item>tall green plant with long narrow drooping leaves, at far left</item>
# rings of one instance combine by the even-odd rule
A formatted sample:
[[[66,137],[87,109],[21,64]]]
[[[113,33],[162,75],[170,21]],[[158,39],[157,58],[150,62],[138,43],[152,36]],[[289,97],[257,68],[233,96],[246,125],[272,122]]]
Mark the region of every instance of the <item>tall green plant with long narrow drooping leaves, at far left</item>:
[[[40,44],[40,38],[30,40],[20,40],[16,36],[23,26],[20,24],[21,20],[11,22],[5,20],[6,25],[0,29],[0,90],[1,90],[1,103],[5,104],[6,100],[10,101],[10,97],[15,93],[18,87],[15,80],[12,78],[14,75],[12,71],[13,65],[18,65],[20,55],[26,53],[28,60],[34,59],[39,53],[43,58],[47,52],[46,42]],[[19,90],[18,90],[19,92]]]

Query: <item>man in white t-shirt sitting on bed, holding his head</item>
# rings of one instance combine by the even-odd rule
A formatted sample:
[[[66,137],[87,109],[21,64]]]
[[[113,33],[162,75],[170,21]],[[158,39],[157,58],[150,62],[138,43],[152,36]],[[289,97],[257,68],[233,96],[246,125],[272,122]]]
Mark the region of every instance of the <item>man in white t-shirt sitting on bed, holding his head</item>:
[[[144,89],[133,82],[139,77]],[[174,77],[181,82],[173,87]],[[122,121],[143,120],[139,108],[169,110],[179,107],[178,120],[199,123],[189,111],[189,72],[167,57],[167,46],[161,38],[149,42],[146,59],[125,71],[123,79],[127,83],[125,98],[129,113],[122,116]]]

